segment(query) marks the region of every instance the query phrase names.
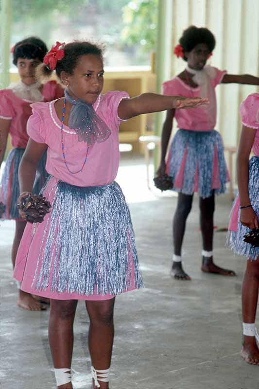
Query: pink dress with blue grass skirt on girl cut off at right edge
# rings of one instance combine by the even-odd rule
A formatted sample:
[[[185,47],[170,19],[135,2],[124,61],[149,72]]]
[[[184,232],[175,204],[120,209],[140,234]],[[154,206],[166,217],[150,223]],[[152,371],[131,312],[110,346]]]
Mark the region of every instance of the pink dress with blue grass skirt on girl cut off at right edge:
[[[256,131],[253,143],[254,157],[249,160],[248,192],[253,210],[259,216],[259,93],[250,94],[241,104],[240,115],[242,124]],[[240,222],[240,199],[237,195],[230,215],[227,234],[227,245],[237,254],[256,260],[259,248],[252,248],[243,242],[243,236],[249,231]]]

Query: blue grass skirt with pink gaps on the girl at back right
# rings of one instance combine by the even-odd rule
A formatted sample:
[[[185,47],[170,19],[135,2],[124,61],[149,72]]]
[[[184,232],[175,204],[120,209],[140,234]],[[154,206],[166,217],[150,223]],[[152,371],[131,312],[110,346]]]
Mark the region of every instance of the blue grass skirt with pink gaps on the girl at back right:
[[[219,132],[178,130],[171,143],[167,174],[173,177],[173,191],[198,192],[203,198],[224,193],[229,176]]]

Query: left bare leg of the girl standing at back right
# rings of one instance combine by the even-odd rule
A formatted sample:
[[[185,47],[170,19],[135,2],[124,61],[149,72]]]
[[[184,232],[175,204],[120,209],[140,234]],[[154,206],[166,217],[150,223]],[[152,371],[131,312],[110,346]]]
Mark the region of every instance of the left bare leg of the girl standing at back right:
[[[174,254],[181,255],[185,233],[186,220],[191,210],[193,195],[178,193],[177,207],[173,216],[173,247]],[[183,270],[181,262],[173,262],[171,274],[177,280],[190,280]]]

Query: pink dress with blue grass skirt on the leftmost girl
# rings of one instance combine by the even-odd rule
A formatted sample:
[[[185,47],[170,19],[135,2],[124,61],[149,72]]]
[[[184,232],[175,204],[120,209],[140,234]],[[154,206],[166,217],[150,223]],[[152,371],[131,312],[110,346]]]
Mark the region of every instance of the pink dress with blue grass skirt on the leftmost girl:
[[[56,81],[43,85],[42,96],[45,102],[60,98],[64,89]],[[0,201],[5,205],[4,219],[22,220],[17,211],[17,198],[20,194],[18,183],[18,166],[29,140],[26,125],[32,115],[30,102],[18,97],[12,89],[0,90],[0,119],[10,120],[10,136],[13,149],[6,159],[5,168],[0,182]],[[46,180],[46,157],[39,162],[35,178],[34,192],[39,193]]]

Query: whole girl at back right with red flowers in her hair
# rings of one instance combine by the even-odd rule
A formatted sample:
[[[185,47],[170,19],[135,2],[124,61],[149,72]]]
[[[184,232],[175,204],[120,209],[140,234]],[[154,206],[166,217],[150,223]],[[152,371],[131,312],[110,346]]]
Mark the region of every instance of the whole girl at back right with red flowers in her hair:
[[[226,74],[217,68],[206,66],[215,47],[215,38],[207,28],[190,26],[183,32],[174,53],[187,62],[187,67],[178,76],[163,84],[164,94],[186,97],[207,97],[209,106],[191,111],[182,109],[167,111],[162,131],[161,162],[158,176],[165,172],[173,179],[173,190],[178,192],[178,202],[173,217],[173,264],[171,275],[177,280],[190,280],[182,267],[182,243],[186,220],[192,206],[193,193],[200,197],[200,226],[202,232],[202,271],[235,275],[213,262],[213,214],[214,195],[224,193],[228,173],[224,160],[224,147],[216,124],[215,88],[221,83],[258,85],[259,78],[250,75]],[[179,130],[173,137],[166,153],[172,132],[173,118]]]

